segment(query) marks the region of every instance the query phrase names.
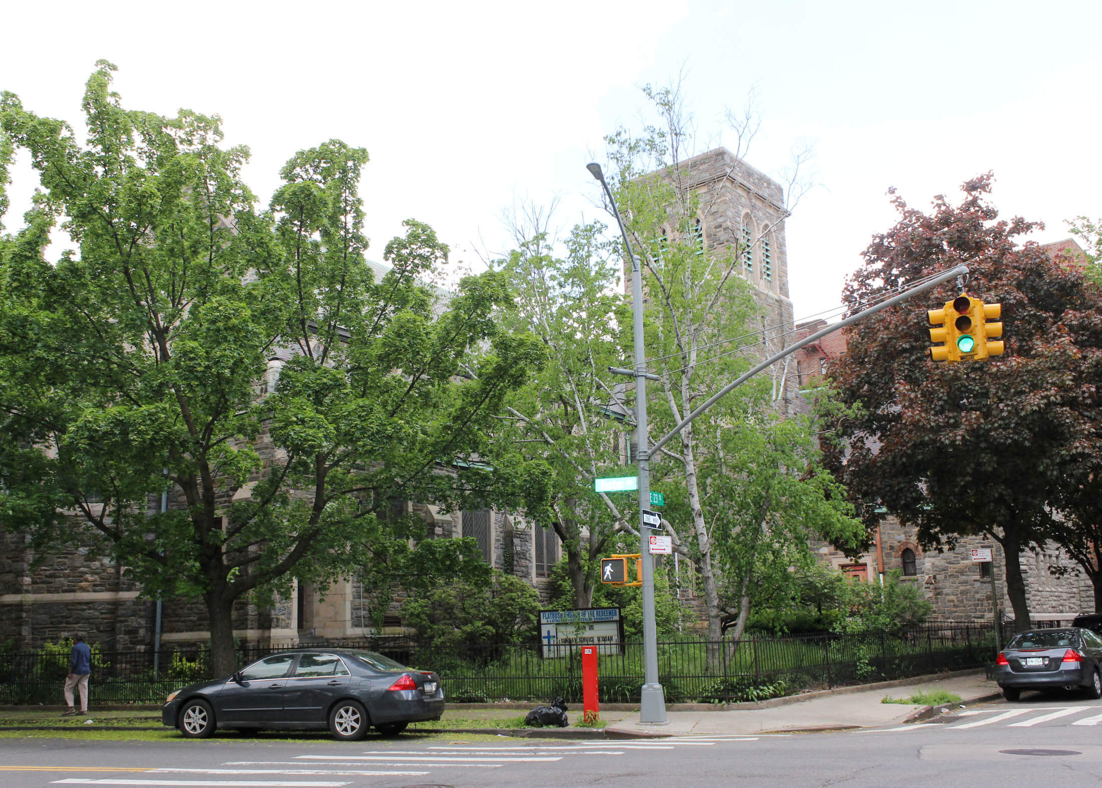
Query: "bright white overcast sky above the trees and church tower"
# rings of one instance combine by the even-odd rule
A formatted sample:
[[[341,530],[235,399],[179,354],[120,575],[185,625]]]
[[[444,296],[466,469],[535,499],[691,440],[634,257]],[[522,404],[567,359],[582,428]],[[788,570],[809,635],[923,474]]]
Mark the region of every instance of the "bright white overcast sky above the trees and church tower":
[[[367,148],[372,259],[402,219],[433,225],[478,267],[508,239],[515,199],[561,199],[565,227],[598,218],[585,171],[636,123],[639,87],[684,89],[702,133],[756,85],[748,161],[776,173],[815,144],[820,187],[789,219],[796,315],[830,309],[894,213],[993,170],[1004,215],[1102,216],[1096,2],[6,3],[0,89],[79,122],[97,58],[126,106],[219,114],[252,150],[267,204],[280,165],[329,138]],[[730,142],[730,140],[728,140]],[[25,159],[9,228],[33,188]],[[955,199],[955,196],[954,196]]]

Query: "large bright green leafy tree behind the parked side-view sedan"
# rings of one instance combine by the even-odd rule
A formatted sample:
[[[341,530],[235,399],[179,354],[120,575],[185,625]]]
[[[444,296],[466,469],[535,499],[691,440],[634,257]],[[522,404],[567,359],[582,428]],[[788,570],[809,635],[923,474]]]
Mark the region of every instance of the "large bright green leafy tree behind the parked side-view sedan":
[[[147,593],[202,600],[228,672],[239,600],[472,561],[464,540],[412,550],[395,498],[539,495],[538,468],[485,461],[487,420],[543,352],[498,330],[497,274],[437,314],[422,282],[447,248],[426,225],[406,223],[375,280],[364,150],[300,151],[259,211],[217,117],[126,109],[112,71],[88,80],[84,144],[0,104],[41,180],[0,261],[0,522],[40,551],[94,533]],[[61,217],[77,248],[47,261]],[[179,501],[165,514],[149,506],[162,490]]]

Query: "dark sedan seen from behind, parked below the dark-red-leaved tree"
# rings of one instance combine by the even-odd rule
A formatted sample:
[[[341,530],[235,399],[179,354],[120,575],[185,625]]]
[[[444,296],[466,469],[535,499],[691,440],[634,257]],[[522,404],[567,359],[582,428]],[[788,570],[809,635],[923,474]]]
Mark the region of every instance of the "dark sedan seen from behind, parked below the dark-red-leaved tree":
[[[1085,689],[1102,698],[1102,638],[1090,629],[1031,629],[1019,633],[995,659],[995,680],[1008,701],[1022,690]]]

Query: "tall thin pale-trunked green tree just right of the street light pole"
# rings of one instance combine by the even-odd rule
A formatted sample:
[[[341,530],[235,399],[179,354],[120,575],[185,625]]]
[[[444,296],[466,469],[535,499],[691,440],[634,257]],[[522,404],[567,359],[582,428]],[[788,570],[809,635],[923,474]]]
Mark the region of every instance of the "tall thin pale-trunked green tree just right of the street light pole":
[[[761,345],[779,349],[785,331],[749,327],[760,310],[739,274],[747,247],[703,244],[696,217],[712,206],[702,204],[682,163],[691,122],[678,90],[645,91],[660,122],[639,137],[620,129],[607,143],[617,202],[636,249],[646,250],[647,348],[661,377],[648,409],[651,434],[661,435],[746,371]],[[747,128],[736,125],[741,140]],[[793,173],[789,207],[798,180]],[[749,381],[651,457],[656,487],[669,490],[667,529],[703,585],[713,644],[732,622],[735,637],[742,635],[761,573],[802,561],[812,536],[846,544],[862,532],[841,488],[819,467],[812,422],[784,418],[786,379],[780,365]],[[710,658],[719,657],[713,646]]]

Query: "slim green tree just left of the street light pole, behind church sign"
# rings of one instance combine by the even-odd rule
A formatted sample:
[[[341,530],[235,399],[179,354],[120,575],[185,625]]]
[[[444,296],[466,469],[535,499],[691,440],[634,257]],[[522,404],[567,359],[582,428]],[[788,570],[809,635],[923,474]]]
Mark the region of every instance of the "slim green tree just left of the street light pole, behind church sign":
[[[512,222],[518,248],[498,263],[516,293],[507,324],[531,332],[548,348],[548,363],[512,395],[499,436],[520,462],[553,471],[550,506],[530,511],[562,543],[573,606],[590,607],[599,559],[623,532],[638,532],[635,509],[597,494],[597,476],[627,474],[629,430],[623,379],[607,371],[623,357],[624,301],[615,293],[613,249],[603,225],[575,226],[557,257],[547,233],[549,213],[528,211]],[[629,321],[628,321],[629,323]]]

